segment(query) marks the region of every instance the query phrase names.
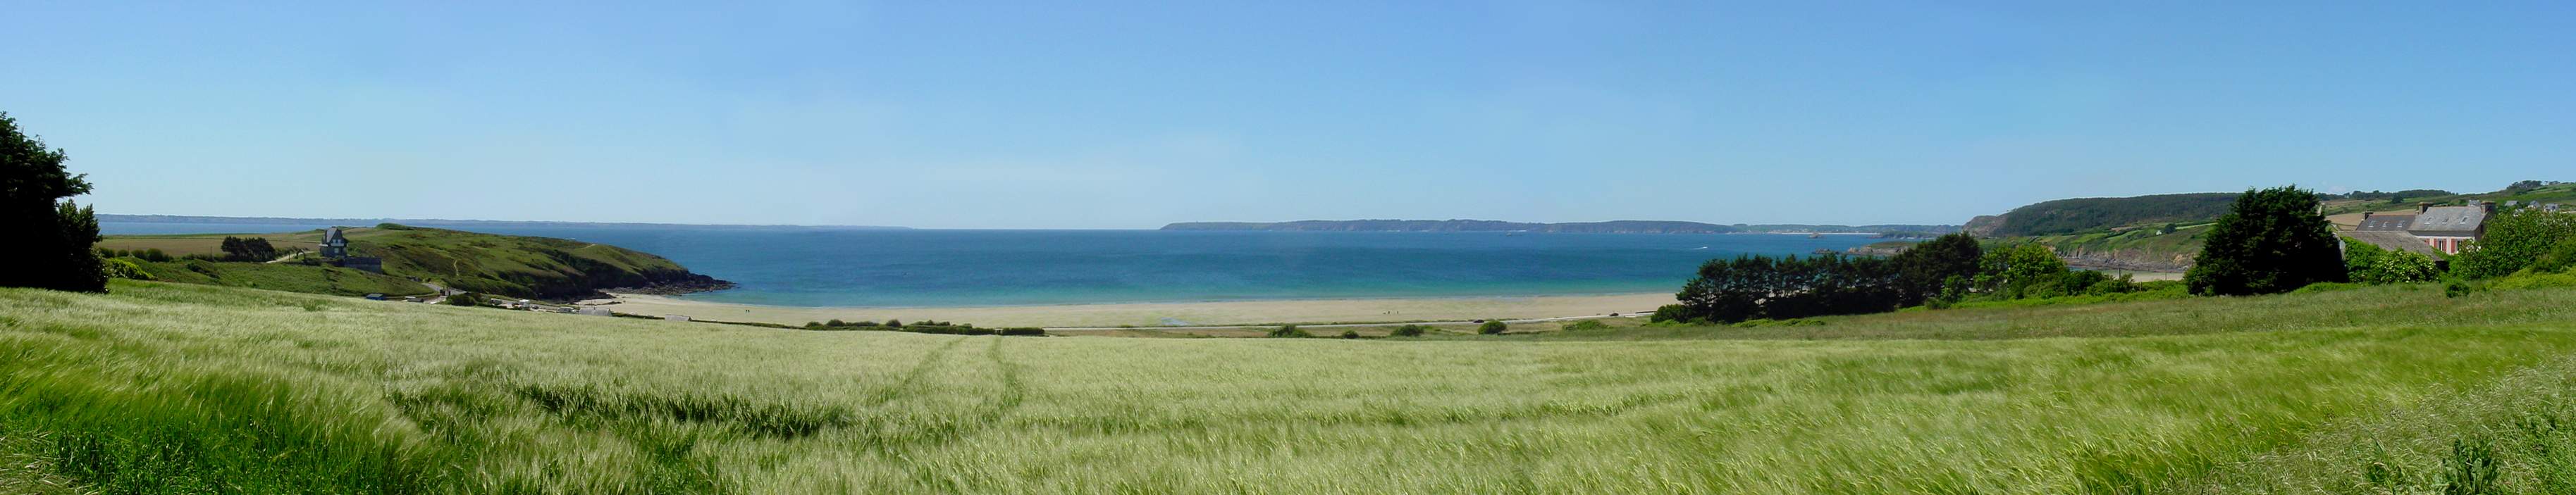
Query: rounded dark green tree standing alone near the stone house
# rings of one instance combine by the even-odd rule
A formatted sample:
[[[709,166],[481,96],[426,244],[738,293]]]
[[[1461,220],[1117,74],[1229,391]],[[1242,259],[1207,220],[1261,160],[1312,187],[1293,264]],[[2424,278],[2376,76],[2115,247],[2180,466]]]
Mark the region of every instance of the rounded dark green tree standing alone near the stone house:
[[[2280,294],[2344,281],[2344,258],[2316,193],[2282,186],[2236,196],[2182,281],[2202,296]]]

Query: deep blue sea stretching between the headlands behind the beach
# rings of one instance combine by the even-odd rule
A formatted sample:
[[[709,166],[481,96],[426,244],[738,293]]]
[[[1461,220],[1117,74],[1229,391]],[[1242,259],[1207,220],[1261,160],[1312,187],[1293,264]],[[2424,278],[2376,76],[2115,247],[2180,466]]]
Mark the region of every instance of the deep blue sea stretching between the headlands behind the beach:
[[[100,222],[106,235],[325,224]],[[1677,291],[1710,258],[1808,255],[1873,235],[459,227],[654,253],[739,284],[685,299],[775,307],[1010,307]]]

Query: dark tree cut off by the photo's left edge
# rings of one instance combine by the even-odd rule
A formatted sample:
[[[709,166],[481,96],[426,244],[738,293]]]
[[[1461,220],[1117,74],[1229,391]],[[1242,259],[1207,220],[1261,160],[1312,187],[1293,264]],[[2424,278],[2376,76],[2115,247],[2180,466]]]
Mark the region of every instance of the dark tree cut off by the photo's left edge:
[[[106,291],[108,276],[90,250],[98,242],[98,214],[70,196],[90,193],[85,175],[62,168],[62,150],[18,131],[18,119],[0,113],[0,286],[57,291]]]

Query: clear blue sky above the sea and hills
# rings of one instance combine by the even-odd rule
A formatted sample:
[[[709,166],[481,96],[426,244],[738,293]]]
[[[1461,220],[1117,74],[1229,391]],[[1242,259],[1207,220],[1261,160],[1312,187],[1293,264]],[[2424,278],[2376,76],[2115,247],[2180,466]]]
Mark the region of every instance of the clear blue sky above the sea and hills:
[[[2576,180],[2576,3],[13,3],[111,214],[1965,222]]]

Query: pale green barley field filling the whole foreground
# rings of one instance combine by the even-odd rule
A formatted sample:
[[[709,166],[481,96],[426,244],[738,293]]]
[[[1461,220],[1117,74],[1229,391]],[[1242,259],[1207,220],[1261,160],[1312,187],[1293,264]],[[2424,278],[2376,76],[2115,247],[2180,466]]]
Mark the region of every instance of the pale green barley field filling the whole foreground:
[[[1425,340],[0,289],[0,492],[2571,492],[2576,291]]]

